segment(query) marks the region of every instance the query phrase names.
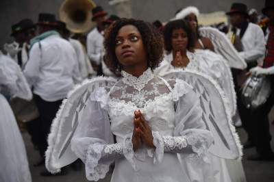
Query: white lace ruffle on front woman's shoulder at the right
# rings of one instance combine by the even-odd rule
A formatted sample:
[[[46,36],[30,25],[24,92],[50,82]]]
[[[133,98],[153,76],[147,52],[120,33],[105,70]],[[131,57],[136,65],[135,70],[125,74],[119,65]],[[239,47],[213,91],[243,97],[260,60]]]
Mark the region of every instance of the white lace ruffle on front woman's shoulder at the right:
[[[187,83],[185,81],[182,81],[181,79],[176,79],[176,83],[175,86],[173,88],[173,101],[179,101],[179,98],[181,96],[183,96],[184,94],[187,94],[190,90],[190,88],[192,88],[191,86],[186,87]]]

